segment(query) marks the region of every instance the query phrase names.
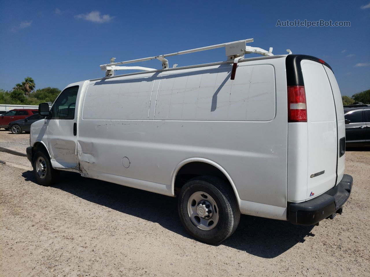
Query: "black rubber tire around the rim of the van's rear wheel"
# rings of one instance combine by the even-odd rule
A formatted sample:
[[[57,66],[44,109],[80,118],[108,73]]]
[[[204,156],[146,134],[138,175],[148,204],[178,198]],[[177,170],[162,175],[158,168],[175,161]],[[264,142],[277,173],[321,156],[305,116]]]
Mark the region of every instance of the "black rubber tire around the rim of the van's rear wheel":
[[[216,202],[219,220],[216,227],[211,230],[201,230],[190,220],[188,214],[188,200],[190,196],[197,191],[208,193]],[[216,244],[231,235],[228,232],[229,225],[233,222],[233,219],[228,212],[231,207],[219,189],[207,181],[196,179],[186,183],[182,188],[181,195],[179,196],[178,209],[181,222],[186,231],[198,240]]]

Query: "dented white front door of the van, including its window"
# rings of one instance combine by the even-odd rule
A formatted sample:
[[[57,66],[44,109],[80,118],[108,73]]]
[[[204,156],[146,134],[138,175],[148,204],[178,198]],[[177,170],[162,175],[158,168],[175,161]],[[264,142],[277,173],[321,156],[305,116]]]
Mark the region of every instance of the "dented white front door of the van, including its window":
[[[78,165],[77,105],[79,86],[63,90],[51,107],[51,115],[45,119],[47,147],[54,168],[74,168]]]

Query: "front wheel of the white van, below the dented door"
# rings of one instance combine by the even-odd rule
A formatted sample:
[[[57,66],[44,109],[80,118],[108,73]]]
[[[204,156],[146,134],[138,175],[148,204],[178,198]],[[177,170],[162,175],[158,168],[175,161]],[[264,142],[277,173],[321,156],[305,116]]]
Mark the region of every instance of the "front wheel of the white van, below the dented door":
[[[33,156],[33,173],[37,183],[43,186],[53,185],[59,176],[59,171],[51,166],[49,155],[40,150]]]

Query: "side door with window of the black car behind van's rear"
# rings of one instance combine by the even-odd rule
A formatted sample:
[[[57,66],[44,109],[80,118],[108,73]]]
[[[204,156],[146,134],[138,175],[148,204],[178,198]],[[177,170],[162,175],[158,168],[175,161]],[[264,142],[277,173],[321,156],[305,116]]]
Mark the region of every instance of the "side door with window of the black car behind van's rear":
[[[366,123],[363,110],[353,110],[344,116],[346,124],[347,143],[364,143],[366,141]]]

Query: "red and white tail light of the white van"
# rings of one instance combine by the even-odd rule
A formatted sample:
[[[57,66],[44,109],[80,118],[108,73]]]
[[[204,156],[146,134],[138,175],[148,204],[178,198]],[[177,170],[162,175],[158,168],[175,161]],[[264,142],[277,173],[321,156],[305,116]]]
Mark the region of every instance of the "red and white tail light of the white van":
[[[307,122],[304,86],[288,86],[288,122]]]

